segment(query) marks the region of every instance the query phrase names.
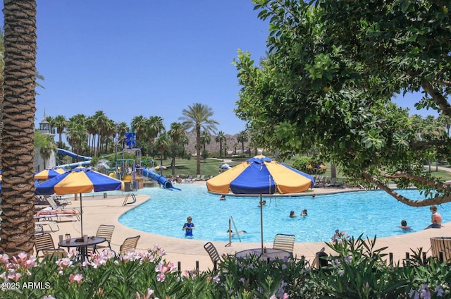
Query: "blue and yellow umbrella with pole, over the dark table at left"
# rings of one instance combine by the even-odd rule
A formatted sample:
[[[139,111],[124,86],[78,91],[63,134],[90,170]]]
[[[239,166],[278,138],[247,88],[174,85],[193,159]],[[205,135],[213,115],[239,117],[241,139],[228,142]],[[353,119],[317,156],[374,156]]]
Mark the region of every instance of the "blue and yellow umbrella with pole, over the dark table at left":
[[[80,193],[80,209],[82,209],[81,193],[124,190],[123,181],[111,178],[92,169],[76,168],[49,179],[36,186],[37,195],[65,195]],[[80,214],[81,233],[83,236],[83,213]]]

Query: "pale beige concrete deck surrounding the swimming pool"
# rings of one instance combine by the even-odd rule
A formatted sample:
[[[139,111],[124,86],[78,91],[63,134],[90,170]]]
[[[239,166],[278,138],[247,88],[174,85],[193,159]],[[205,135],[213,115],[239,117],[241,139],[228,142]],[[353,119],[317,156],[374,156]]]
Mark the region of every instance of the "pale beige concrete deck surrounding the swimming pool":
[[[199,182],[199,184],[205,184],[205,182]],[[183,184],[177,185],[183,189]],[[314,193],[316,195],[321,194],[330,194],[330,193],[343,193],[343,192],[352,192],[357,191],[357,189],[352,188],[315,188]],[[183,191],[182,191],[183,192]],[[313,193],[308,193],[311,196]],[[166,261],[173,262],[177,264],[181,263],[181,269],[184,270],[192,270],[196,267],[196,262],[199,262],[199,269],[206,270],[213,267],[213,264],[210,260],[209,255],[204,250],[204,240],[185,240],[181,238],[172,238],[166,236],[159,236],[152,233],[145,233],[143,231],[137,231],[133,228],[129,228],[120,224],[118,221],[119,216],[128,210],[136,207],[137,205],[142,204],[149,200],[149,196],[147,195],[137,195],[137,202],[132,205],[122,206],[124,198],[122,195],[109,195],[107,198],[104,198],[102,194],[99,196],[85,196],[83,195],[83,231],[85,234],[89,236],[94,236],[97,227],[100,224],[112,224],[116,226],[113,238],[111,240],[111,247],[113,250],[118,252],[119,247],[121,246],[123,240],[127,237],[140,235],[140,241],[137,245],[137,250],[147,250],[148,248],[154,248],[155,244],[158,244],[161,248],[166,251]],[[393,198],[393,200],[395,200]],[[80,207],[78,201],[73,201],[72,205],[68,205],[70,207]],[[170,207],[168,207],[168,213],[171,211]],[[445,215],[443,215],[445,216]],[[55,243],[57,243],[58,235],[64,235],[66,233],[70,233],[70,235],[74,238],[80,236],[80,221],[71,221],[70,219],[75,217],[63,217],[66,221],[58,222],[58,226],[60,228],[59,231],[52,233],[51,231],[47,231],[51,233],[54,238]],[[445,216],[447,218],[447,216]],[[158,221],[155,221],[156,225]],[[397,225],[397,224],[394,224]],[[424,226],[428,225],[428,219],[424,219]],[[398,260],[402,260],[405,258],[406,252],[412,253],[411,248],[416,250],[418,248],[423,248],[423,251],[428,252],[428,256],[431,255],[430,248],[431,243],[429,238],[432,237],[441,237],[441,236],[451,236],[451,223],[443,224],[444,227],[440,229],[428,229],[424,231],[418,231],[415,233],[407,233],[402,236],[394,236],[394,237],[385,237],[378,238],[376,240],[376,248],[388,247],[384,252],[392,252],[393,258],[395,262]],[[47,226],[44,226],[46,229]],[[47,228],[48,229],[48,228]],[[181,229],[181,226],[180,226]],[[417,228],[418,229],[418,228]],[[283,233],[283,232],[281,232]],[[333,231],[330,232],[330,237],[333,236]],[[195,231],[194,231],[195,235]],[[357,237],[357,236],[356,236]],[[370,236],[373,238],[373,236]],[[324,242],[314,242],[314,243],[304,243],[299,242],[302,240],[302,236],[296,236],[297,243],[295,243],[295,249],[293,254],[296,256],[304,255],[308,260],[314,260],[316,252],[321,250],[321,248],[326,247],[326,252],[332,253],[331,250],[326,246]],[[227,242],[219,242],[214,241],[214,245],[216,249],[222,254],[235,254],[235,252],[240,250],[245,250],[249,248],[260,248],[261,243],[240,243],[233,242],[228,245]],[[228,245],[228,246],[226,246]],[[57,244],[56,244],[57,246]],[[272,243],[264,243],[266,248],[271,248]],[[428,251],[429,250],[429,251]]]

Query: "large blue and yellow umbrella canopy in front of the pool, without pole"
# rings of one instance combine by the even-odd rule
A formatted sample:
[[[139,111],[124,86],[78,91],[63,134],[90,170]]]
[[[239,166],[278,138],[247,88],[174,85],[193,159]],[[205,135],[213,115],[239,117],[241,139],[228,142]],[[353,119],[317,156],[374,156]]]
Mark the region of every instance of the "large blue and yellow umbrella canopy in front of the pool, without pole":
[[[313,176],[261,155],[206,181],[210,192],[235,194],[301,193],[313,185]]]

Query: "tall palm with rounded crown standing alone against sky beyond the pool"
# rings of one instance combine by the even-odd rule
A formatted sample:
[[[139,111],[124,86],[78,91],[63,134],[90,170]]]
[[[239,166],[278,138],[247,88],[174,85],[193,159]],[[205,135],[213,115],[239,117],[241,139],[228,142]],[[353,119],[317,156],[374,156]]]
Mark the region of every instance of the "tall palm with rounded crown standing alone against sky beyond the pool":
[[[192,129],[196,132],[196,174],[200,174],[200,130],[202,128],[208,133],[215,133],[218,122],[211,119],[214,114],[211,108],[200,103],[194,103],[192,106],[188,106],[188,109],[183,109],[182,114],[183,116],[180,116],[179,119],[183,120],[183,128],[185,130]]]

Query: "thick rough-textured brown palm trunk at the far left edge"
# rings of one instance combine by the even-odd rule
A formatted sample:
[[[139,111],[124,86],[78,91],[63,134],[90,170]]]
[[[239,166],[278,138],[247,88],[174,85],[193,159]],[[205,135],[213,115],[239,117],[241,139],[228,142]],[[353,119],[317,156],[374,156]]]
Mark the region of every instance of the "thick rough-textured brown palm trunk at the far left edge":
[[[31,254],[35,243],[36,1],[4,0],[0,251]]]

